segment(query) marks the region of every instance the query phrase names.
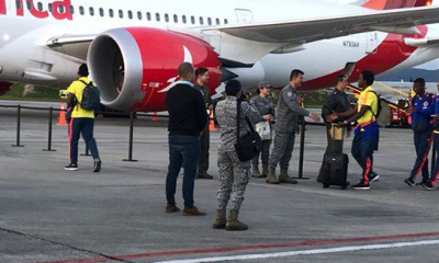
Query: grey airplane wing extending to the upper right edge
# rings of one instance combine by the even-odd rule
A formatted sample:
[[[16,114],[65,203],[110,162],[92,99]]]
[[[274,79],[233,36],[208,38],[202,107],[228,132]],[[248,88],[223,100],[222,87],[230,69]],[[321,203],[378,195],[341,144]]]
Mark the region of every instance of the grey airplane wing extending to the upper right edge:
[[[368,31],[419,34],[415,27],[439,22],[439,7],[407,8],[386,11],[368,10],[360,14],[309,20],[215,26],[203,32],[222,32],[239,38],[264,43],[308,43]]]

